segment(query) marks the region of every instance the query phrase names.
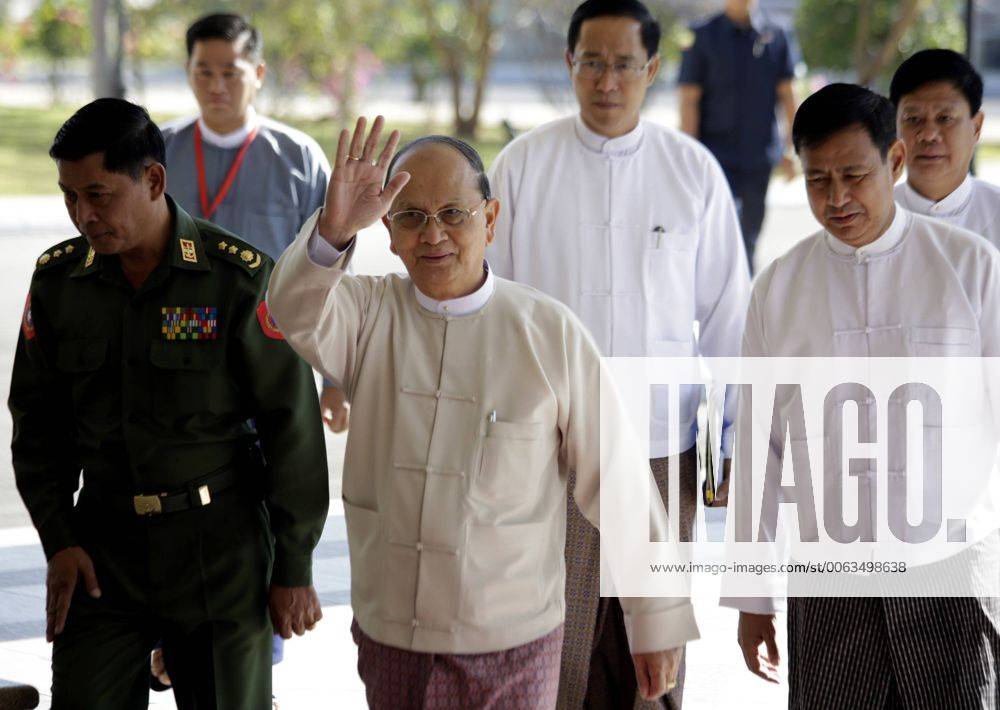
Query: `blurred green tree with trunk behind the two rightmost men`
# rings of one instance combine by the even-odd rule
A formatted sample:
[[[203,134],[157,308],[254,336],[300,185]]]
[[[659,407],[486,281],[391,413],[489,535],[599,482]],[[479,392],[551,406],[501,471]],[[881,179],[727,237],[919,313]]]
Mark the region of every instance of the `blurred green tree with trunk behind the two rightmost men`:
[[[962,0],[802,0],[796,28],[811,67],[875,84],[918,49],[960,50]]]

